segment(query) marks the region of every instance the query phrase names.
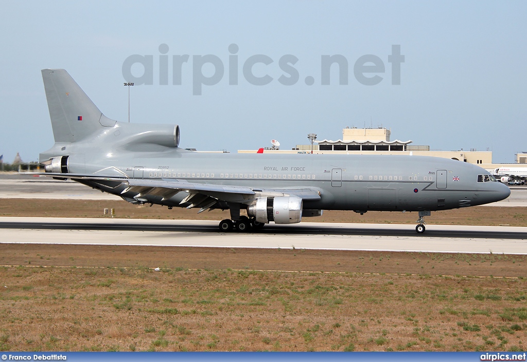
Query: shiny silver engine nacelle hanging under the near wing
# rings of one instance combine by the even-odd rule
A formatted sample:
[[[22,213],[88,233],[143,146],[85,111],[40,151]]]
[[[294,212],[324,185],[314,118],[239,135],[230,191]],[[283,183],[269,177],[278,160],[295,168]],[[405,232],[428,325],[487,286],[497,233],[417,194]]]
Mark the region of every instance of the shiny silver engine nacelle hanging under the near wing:
[[[247,213],[256,221],[268,224],[296,224],[302,220],[302,199],[298,196],[259,197]]]

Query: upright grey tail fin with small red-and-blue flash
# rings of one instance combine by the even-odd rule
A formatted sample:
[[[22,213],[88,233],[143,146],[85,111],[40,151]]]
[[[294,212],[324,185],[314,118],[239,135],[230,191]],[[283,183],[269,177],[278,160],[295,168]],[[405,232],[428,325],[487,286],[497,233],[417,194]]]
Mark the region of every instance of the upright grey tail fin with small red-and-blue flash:
[[[42,78],[55,142],[79,141],[115,125],[64,69],[42,69]]]

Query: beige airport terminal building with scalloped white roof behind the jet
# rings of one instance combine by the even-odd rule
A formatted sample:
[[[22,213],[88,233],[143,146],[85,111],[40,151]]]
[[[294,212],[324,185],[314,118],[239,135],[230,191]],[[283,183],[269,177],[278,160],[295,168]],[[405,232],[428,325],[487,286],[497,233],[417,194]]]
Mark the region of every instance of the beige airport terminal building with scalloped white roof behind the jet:
[[[493,164],[492,151],[441,151],[430,150],[430,146],[412,145],[411,140],[390,140],[391,130],[378,128],[346,127],[342,130],[342,138],[337,140],[317,140],[318,144],[296,145],[293,149],[266,148],[265,153],[275,154],[344,154],[344,155],[416,155],[451,158],[462,162],[481,166],[492,170],[496,167],[521,166],[527,167],[527,153],[516,155],[516,164]],[[256,150],[238,150],[238,153],[256,153]]]

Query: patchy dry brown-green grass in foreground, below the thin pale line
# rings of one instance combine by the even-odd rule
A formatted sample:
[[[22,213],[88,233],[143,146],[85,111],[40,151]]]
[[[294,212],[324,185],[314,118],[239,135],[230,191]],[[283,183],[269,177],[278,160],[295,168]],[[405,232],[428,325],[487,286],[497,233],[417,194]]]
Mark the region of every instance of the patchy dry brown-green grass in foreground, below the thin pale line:
[[[474,351],[527,344],[525,278],[244,273],[2,267],[0,349]]]

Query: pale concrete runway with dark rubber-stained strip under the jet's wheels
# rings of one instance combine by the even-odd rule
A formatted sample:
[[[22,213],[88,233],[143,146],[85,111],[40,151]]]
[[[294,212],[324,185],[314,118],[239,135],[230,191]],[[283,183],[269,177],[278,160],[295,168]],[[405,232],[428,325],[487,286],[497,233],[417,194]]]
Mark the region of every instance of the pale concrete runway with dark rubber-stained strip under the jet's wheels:
[[[1,243],[527,254],[527,228],[301,223],[221,233],[202,220],[0,217]]]

